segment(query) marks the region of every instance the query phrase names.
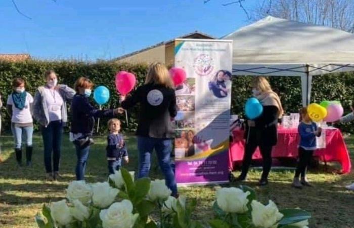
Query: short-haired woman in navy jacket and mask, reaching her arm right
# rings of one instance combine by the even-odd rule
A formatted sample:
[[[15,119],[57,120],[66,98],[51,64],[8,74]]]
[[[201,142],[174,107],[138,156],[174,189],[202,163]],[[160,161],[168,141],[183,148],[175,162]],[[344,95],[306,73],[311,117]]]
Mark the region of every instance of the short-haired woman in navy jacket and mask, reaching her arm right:
[[[118,115],[117,109],[96,109],[90,104],[89,97],[92,93],[94,84],[90,79],[79,78],[75,82],[76,94],[71,102],[72,123],[70,129],[70,141],[76,148],[76,180],[83,180],[86,169],[87,158],[89,158],[90,145],[93,143],[91,138],[95,119]]]

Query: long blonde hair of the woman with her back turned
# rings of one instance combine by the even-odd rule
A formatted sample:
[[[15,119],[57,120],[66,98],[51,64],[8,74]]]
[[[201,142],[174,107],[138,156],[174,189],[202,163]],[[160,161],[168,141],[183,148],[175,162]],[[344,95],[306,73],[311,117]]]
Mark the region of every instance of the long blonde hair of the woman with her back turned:
[[[167,67],[159,62],[150,65],[145,84],[163,85],[167,88],[174,88]]]

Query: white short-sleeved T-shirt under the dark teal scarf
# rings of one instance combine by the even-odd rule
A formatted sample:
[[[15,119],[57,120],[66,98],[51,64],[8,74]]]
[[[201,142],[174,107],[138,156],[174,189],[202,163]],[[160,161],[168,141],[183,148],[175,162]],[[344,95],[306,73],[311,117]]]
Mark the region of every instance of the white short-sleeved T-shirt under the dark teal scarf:
[[[12,105],[12,123],[17,123],[17,124],[27,124],[27,123],[33,123],[32,119],[32,114],[30,110],[30,105],[33,103],[33,97],[30,93],[26,92],[26,101],[25,101],[25,107],[21,110],[17,108],[14,104],[14,101],[12,99],[12,94],[9,95],[8,97],[8,105]]]

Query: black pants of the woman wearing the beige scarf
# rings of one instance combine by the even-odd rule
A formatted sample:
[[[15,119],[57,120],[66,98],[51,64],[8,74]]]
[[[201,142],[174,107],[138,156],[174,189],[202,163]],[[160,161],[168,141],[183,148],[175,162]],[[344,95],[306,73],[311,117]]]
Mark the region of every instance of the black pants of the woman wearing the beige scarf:
[[[242,171],[241,171],[242,177],[246,177],[247,175],[248,169],[252,162],[252,156],[257,146],[258,146],[257,144],[253,144],[253,143],[248,143],[245,145],[245,154],[243,156]],[[262,159],[263,159],[263,172],[262,172],[261,179],[267,179],[268,174],[271,171],[272,148],[273,146],[265,146],[265,145],[259,146],[260,154],[262,155]]]

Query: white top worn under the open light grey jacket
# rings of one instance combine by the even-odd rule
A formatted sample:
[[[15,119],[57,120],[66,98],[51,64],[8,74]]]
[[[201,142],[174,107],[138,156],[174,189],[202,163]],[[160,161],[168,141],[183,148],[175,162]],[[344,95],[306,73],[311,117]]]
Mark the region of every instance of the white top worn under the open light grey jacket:
[[[45,88],[46,104],[49,113],[49,121],[62,120],[62,106],[64,104],[63,98],[57,90]]]

